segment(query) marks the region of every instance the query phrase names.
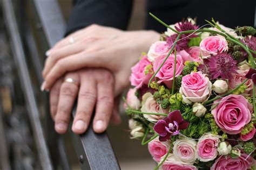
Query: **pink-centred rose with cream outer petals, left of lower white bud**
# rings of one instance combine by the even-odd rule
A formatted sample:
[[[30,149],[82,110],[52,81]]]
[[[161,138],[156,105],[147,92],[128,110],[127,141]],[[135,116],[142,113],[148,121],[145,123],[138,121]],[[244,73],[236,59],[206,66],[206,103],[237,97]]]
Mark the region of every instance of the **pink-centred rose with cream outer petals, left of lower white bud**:
[[[220,143],[220,136],[211,133],[205,133],[197,143],[198,158],[202,162],[208,162],[217,157],[217,147]]]

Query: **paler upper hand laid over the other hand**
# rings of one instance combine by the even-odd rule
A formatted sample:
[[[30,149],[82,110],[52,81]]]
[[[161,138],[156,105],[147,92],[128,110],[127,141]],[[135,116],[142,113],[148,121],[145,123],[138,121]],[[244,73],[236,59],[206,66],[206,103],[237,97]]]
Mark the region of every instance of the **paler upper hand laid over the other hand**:
[[[56,44],[48,52],[42,89],[50,89],[64,73],[85,67],[104,67],[114,74],[119,94],[129,85],[130,68],[141,52],[159,39],[154,31],[122,31],[91,25]]]

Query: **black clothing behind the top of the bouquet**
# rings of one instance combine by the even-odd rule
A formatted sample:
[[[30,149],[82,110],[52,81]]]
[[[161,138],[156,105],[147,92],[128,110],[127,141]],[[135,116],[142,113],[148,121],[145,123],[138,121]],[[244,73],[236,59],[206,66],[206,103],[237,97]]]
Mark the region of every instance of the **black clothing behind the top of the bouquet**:
[[[255,0],[147,0],[147,11],[167,24],[180,22],[183,18],[197,17],[197,24],[206,24],[205,19],[219,21],[227,27],[253,26]],[[166,27],[147,15],[146,29],[163,32]]]

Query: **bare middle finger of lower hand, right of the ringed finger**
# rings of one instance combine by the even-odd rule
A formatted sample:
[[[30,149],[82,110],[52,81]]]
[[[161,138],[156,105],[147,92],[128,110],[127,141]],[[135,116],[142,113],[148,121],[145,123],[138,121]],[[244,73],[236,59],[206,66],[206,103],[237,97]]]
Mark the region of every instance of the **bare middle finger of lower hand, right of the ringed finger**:
[[[72,131],[82,134],[86,131],[96,103],[96,80],[88,74],[80,75],[81,85],[78,93],[78,104]]]

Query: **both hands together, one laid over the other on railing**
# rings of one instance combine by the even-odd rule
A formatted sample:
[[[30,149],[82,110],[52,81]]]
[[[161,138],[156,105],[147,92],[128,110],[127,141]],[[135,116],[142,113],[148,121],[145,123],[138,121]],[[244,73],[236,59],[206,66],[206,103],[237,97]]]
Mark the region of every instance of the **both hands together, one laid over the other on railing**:
[[[55,130],[65,133],[77,100],[72,131],[86,131],[93,109],[93,130],[120,123],[119,96],[129,86],[130,68],[159,39],[154,31],[122,31],[90,25],[70,34],[46,52],[41,90],[50,91]]]

